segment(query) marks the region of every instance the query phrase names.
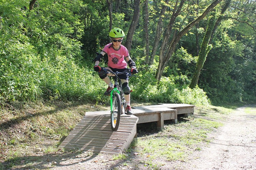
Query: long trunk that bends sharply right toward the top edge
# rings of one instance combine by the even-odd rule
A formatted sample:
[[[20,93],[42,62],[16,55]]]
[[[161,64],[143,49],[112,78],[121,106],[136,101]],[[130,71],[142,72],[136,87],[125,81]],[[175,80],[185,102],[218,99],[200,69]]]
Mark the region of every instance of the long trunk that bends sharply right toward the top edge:
[[[187,33],[187,31],[189,31],[192,27],[195,26],[195,24],[197,24],[200,20],[202,20],[217,4],[219,4],[222,0],[215,0],[213,1],[207,8],[206,10],[200,15],[198,16],[195,20],[193,20],[191,23],[189,23],[185,28],[183,28],[176,36],[174,36],[170,42],[170,45],[168,47],[168,51],[166,53],[166,55],[163,56],[161,62],[159,60],[159,65],[157,68],[157,72],[156,72],[156,76],[155,78],[160,81],[164,68],[167,65],[170,57],[172,56],[172,54],[175,51],[176,45],[178,44],[179,40],[181,39],[181,37]]]

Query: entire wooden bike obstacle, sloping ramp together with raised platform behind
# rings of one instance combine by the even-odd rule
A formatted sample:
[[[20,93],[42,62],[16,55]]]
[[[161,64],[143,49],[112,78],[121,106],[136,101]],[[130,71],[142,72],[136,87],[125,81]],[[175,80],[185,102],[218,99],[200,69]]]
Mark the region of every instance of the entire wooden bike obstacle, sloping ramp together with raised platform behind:
[[[178,114],[194,112],[194,105],[189,104],[159,104],[132,108],[133,115],[121,115],[116,132],[111,129],[110,111],[86,112],[59,147],[94,153],[119,154],[137,137],[137,123],[156,121],[157,129],[163,130],[164,120],[177,123]]]

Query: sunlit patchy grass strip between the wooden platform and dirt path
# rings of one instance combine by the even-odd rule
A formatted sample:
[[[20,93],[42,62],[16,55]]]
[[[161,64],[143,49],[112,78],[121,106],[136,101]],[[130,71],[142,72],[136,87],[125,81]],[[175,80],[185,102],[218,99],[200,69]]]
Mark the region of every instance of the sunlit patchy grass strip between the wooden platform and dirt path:
[[[223,126],[220,120],[232,111],[220,106],[198,106],[194,115],[181,118],[178,124],[165,124],[165,130],[139,137],[135,151],[150,160],[186,161],[191,152],[200,151],[211,141],[208,134]]]

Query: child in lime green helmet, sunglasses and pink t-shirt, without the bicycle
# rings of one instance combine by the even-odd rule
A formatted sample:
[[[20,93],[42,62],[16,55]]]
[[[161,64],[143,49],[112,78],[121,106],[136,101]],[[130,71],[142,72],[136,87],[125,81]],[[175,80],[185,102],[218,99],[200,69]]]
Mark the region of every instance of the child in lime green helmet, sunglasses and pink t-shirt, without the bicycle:
[[[101,71],[101,67],[99,66],[99,63],[101,61],[101,58],[107,53],[108,54],[108,67],[107,69],[110,69],[112,71],[119,71],[123,72],[127,68],[127,63],[129,67],[131,68],[131,73],[135,74],[138,73],[134,61],[131,59],[128,50],[126,47],[121,45],[123,37],[125,36],[123,30],[120,28],[113,28],[109,32],[109,38],[111,39],[110,44],[107,44],[101,53],[97,55],[97,57],[94,59],[95,65],[94,70],[98,72],[99,77],[107,83],[108,88],[105,91],[105,96],[110,96],[111,90],[114,88],[113,84],[111,83],[108,76],[111,76],[112,74],[106,74],[104,71]],[[126,59],[126,61],[124,60]],[[128,73],[127,73],[128,74]],[[127,74],[120,74],[118,77],[121,79],[122,82],[122,89],[124,92],[124,99],[125,99],[125,111],[127,115],[132,115],[132,109],[130,106],[130,92],[131,89],[128,85],[128,76]]]

